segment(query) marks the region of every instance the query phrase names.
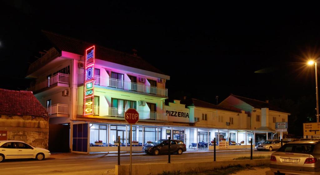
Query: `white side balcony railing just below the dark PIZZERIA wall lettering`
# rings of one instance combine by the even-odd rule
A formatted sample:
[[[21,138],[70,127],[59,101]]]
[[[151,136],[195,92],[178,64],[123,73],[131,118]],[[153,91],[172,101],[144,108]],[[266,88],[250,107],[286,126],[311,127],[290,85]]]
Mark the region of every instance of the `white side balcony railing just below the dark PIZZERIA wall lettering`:
[[[69,84],[69,75],[58,73],[50,78],[47,78],[47,79],[41,81],[40,83],[38,83],[34,86],[31,86],[30,90],[31,91],[39,91],[39,90],[44,89],[46,87],[50,87],[56,83]]]

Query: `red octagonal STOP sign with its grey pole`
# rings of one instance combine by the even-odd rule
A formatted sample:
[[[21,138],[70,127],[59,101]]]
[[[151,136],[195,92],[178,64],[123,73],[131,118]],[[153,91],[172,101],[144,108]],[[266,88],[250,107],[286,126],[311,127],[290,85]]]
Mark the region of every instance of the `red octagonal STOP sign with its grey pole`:
[[[139,113],[136,109],[129,108],[124,113],[124,120],[130,124],[130,175],[132,174],[132,125],[139,120]]]

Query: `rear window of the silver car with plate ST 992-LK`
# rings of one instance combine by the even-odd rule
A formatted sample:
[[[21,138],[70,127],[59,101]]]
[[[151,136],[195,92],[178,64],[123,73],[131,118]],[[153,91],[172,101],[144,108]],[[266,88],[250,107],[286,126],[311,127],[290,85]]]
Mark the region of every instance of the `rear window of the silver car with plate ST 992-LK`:
[[[315,147],[314,144],[290,144],[287,143],[284,146],[282,146],[280,149],[278,149],[278,152],[299,152],[299,153],[305,153],[305,152],[313,152],[313,148]]]

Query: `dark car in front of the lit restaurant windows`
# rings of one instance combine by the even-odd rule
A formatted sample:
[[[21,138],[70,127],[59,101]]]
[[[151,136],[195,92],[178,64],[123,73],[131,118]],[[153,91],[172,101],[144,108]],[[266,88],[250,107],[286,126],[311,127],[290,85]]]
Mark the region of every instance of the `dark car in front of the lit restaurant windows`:
[[[186,144],[184,144],[181,140],[171,140],[170,153],[182,154],[182,152],[186,150],[187,150]],[[169,140],[161,139],[151,144],[145,145],[143,146],[142,151],[148,154],[153,154],[153,155],[168,153]]]

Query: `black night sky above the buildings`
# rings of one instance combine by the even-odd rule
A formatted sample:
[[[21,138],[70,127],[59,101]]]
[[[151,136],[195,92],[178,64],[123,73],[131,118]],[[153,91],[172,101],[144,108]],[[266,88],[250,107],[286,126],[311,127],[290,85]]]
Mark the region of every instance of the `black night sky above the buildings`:
[[[315,68],[305,63],[320,53],[315,4],[62,2],[2,2],[0,88],[28,87],[28,65],[50,48],[41,33],[47,30],[138,50],[171,76],[169,100],[216,104],[216,96],[221,102],[233,93],[284,108],[292,113],[289,127],[315,121]]]

